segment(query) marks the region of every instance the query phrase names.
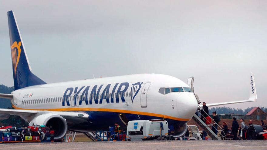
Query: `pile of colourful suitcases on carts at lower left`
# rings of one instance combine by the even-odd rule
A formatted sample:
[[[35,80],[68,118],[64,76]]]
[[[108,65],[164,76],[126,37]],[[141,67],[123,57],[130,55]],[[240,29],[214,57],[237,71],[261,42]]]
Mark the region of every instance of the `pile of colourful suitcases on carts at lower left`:
[[[10,142],[54,142],[55,132],[45,125],[16,128],[0,127],[0,143]]]

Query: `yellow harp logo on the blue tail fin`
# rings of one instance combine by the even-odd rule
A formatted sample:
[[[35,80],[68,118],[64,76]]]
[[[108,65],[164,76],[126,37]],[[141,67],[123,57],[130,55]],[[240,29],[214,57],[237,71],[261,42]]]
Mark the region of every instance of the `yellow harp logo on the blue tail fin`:
[[[14,42],[11,45],[11,56],[12,56],[12,64],[13,64],[13,69],[14,69],[14,75],[16,74],[17,71],[17,66],[19,63],[19,57],[20,57],[20,53],[21,53],[21,42]],[[16,76],[15,76],[16,78]]]

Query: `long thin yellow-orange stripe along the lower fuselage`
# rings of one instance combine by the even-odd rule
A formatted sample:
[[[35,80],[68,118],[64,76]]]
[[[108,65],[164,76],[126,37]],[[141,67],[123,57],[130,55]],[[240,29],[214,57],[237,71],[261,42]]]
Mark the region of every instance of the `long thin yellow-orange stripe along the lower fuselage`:
[[[172,120],[178,120],[178,121],[189,121],[190,119],[184,119],[184,118],[176,118],[168,115],[161,115],[161,114],[155,114],[150,112],[137,112],[137,111],[131,111],[131,110],[121,110],[121,109],[109,109],[109,108],[56,108],[56,109],[24,109],[24,108],[18,108],[15,107],[15,109],[22,109],[22,110],[40,110],[40,111],[100,111],[100,112],[118,112],[118,113],[127,113],[127,114],[136,114],[136,115],[147,115],[147,116],[154,116],[154,117],[161,117],[161,118],[168,118]]]

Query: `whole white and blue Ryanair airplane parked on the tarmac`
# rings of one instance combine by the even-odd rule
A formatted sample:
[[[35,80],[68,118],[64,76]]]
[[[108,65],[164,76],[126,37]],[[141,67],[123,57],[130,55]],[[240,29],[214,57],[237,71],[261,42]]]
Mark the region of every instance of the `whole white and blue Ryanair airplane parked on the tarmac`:
[[[8,12],[8,27],[15,91],[0,94],[15,109],[0,109],[0,119],[19,115],[29,125],[55,130],[55,140],[67,131],[106,130],[118,122],[122,129],[131,120],[164,119],[174,126],[173,137],[181,137],[187,122],[202,105],[188,84],[162,74],[136,74],[46,83],[32,73],[14,12]],[[253,73],[248,100],[207,104],[226,105],[257,100]]]

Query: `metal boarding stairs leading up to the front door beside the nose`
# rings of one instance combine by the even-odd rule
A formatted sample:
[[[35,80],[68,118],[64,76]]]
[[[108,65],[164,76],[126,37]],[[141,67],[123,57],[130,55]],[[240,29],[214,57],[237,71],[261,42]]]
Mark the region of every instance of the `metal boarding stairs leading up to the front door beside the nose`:
[[[201,108],[200,106],[198,106],[198,108],[199,108],[199,109],[198,109],[197,112],[200,112],[200,111],[202,110],[202,108]],[[203,112],[204,112],[204,111],[203,111]],[[205,113],[206,113],[206,112],[205,112]],[[207,114],[207,113],[206,113],[206,114]],[[200,113],[200,115],[202,115],[202,114]],[[207,114],[207,115],[208,115],[208,114]],[[204,118],[205,118],[205,117],[204,117]],[[208,121],[208,122],[209,122],[209,125],[207,125],[205,122],[203,122],[203,121],[201,120],[201,118],[198,117],[198,115],[194,114],[193,120],[194,120],[199,126],[201,126],[205,132],[207,132],[207,134],[211,137],[212,140],[221,140],[221,138],[224,137],[223,135],[220,135],[220,133],[218,132],[218,130],[217,130],[217,132],[218,132],[217,135],[211,130],[212,126],[215,125],[215,124],[217,124],[216,122],[213,121],[213,119],[212,119],[211,122]],[[214,123],[212,123],[212,122],[214,122]],[[218,125],[218,124],[217,124],[217,125]],[[222,128],[221,128],[219,125],[218,125],[217,128],[223,132]],[[223,132],[223,133],[224,133],[224,132]],[[218,136],[218,135],[219,135],[219,136]],[[225,135],[225,134],[224,134],[224,135]]]

